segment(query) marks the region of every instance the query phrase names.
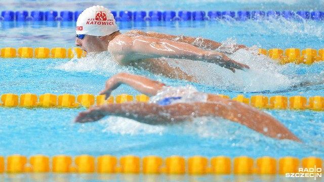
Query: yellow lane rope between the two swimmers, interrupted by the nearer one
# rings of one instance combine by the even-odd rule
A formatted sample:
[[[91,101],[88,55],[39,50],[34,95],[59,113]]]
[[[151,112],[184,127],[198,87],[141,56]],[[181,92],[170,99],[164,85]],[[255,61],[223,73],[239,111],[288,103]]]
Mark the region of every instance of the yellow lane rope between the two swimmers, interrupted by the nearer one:
[[[229,96],[218,95],[222,98],[230,99]],[[38,99],[39,98],[39,99]],[[117,96],[110,96],[105,100],[104,95],[95,96],[92,94],[80,94],[77,96],[70,94],[54,95],[54,94],[22,94],[20,97],[16,94],[1,95],[0,106],[3,107],[45,107],[45,108],[89,108],[94,105],[103,105],[108,103],[124,103],[124,102],[148,102],[149,97],[146,95],[132,96],[128,94],[121,94]],[[292,109],[304,110],[310,109],[313,111],[324,110],[324,97],[314,96],[308,99],[303,96],[292,96],[290,98],[285,96],[267,96],[256,95],[251,98],[245,98],[244,95],[237,95],[232,100],[241,102],[259,109]]]

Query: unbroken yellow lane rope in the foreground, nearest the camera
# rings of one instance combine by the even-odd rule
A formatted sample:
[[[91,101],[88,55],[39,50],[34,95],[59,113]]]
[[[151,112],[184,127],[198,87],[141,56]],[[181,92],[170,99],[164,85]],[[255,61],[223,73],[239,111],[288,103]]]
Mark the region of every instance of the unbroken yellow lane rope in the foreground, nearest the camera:
[[[297,173],[300,168],[317,168],[315,173],[321,174],[322,159],[319,157],[273,157],[252,158],[238,156],[233,159],[216,156],[208,159],[203,156],[192,156],[185,159],[181,156],[162,158],[159,156],[121,156],[119,159],[111,155],[91,156],[78,155],[72,158],[67,155],[48,157],[35,155],[27,159],[23,155],[0,156],[0,174],[23,172],[60,172],[60,173],[133,173],[133,174],[281,174]],[[314,167],[315,166],[315,167]],[[319,170],[320,169],[320,170]],[[306,171],[306,170],[305,170]],[[314,176],[313,176],[314,177]]]

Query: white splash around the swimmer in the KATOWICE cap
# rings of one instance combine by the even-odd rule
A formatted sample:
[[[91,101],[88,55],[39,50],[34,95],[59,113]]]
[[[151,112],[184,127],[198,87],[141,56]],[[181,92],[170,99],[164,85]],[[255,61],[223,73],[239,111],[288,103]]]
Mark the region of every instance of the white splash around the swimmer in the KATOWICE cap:
[[[235,40],[228,39],[224,44],[226,44],[227,47],[231,47],[231,45],[235,44]],[[295,85],[301,85],[303,82],[310,82],[312,84],[324,82],[320,77],[308,79],[309,71],[306,71],[304,75],[300,75],[298,72],[298,67],[300,65],[278,65],[274,60],[263,55],[258,55],[257,52],[257,47],[251,47],[249,51],[241,49],[233,54],[229,54],[228,57],[231,59],[250,66],[249,70],[236,70],[235,73],[221,68],[216,64],[201,61],[165,58],[164,60],[168,61],[171,67],[179,67],[188,75],[195,77],[196,82],[217,86],[222,89],[260,92],[262,90],[274,91],[287,89]],[[295,70],[297,73],[287,71],[292,67],[294,68],[292,70]],[[105,76],[111,76],[119,72],[130,72],[152,77],[152,74],[147,71],[139,70],[131,66],[118,65],[109,52],[90,54],[82,59],[72,59],[67,63],[57,65],[56,69],[91,72],[92,74]],[[318,73],[316,73],[316,75],[318,75]],[[304,79],[300,79],[301,77],[304,77]],[[154,77],[153,79],[156,78],[157,77]]]

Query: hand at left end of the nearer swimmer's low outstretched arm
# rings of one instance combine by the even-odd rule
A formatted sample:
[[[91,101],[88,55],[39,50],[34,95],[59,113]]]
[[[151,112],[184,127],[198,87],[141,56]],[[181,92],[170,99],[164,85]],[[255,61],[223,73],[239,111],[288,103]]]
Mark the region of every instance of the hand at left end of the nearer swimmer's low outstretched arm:
[[[94,122],[98,121],[101,118],[105,117],[105,112],[101,109],[101,107],[95,106],[91,107],[86,111],[80,112],[74,122],[85,123],[85,122]]]

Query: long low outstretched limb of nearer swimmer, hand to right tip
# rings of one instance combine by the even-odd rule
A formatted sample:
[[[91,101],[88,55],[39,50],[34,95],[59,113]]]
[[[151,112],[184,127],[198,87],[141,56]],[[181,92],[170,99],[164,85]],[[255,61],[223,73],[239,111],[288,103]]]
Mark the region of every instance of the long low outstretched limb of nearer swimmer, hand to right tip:
[[[194,114],[193,114],[194,113]],[[235,101],[228,103],[179,103],[160,106],[152,103],[123,103],[95,106],[79,113],[75,122],[93,122],[107,115],[134,119],[146,124],[168,124],[193,117],[218,116],[277,139],[300,140],[288,128],[270,115]]]

